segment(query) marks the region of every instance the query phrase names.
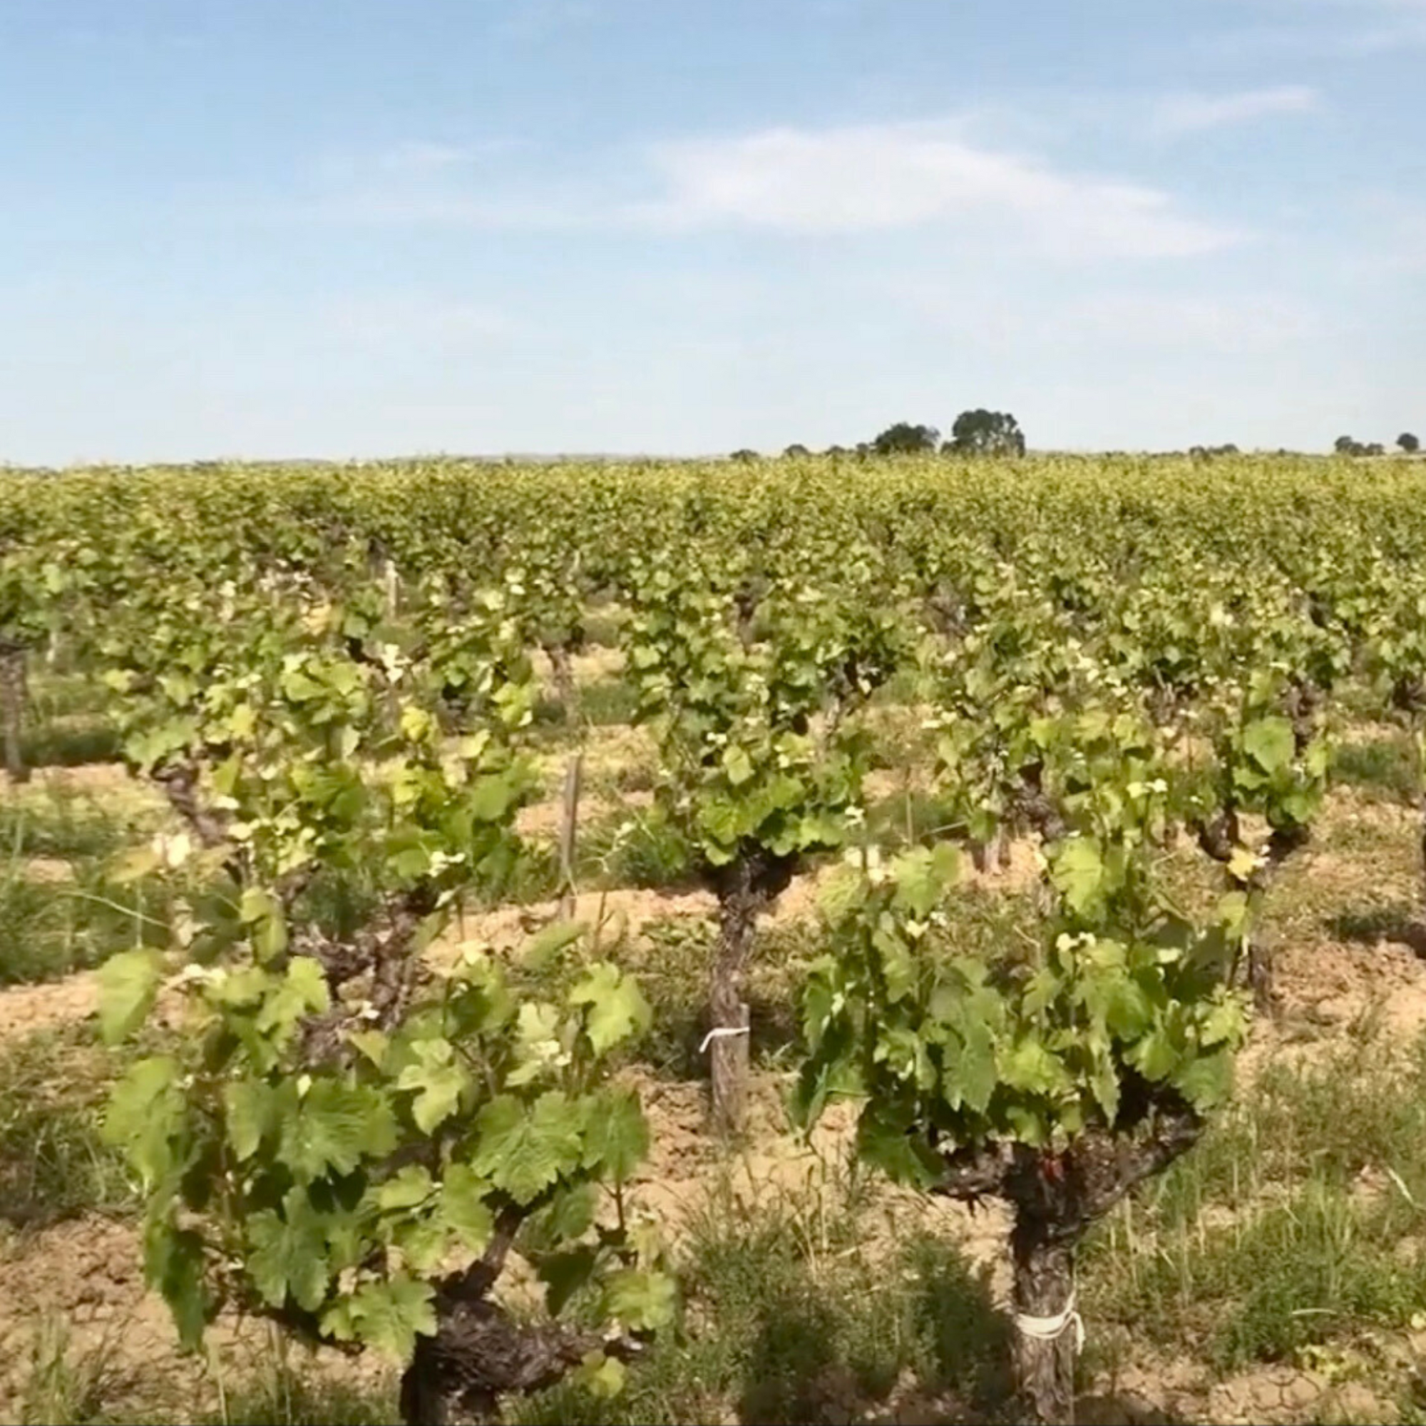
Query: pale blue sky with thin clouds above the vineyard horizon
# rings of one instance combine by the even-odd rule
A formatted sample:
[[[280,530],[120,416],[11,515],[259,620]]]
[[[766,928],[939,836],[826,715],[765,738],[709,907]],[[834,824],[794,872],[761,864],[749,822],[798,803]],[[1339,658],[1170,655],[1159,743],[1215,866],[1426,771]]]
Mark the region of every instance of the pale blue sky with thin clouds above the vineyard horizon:
[[[0,461],[1426,435],[1426,0],[0,0]]]

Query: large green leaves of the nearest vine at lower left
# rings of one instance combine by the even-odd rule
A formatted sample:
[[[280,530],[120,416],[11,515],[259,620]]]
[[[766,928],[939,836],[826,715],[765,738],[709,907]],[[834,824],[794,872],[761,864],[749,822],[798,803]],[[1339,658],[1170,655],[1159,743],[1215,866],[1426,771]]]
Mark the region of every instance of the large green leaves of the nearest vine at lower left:
[[[647,1147],[636,1101],[596,1087],[600,1058],[646,1022],[610,965],[543,1001],[468,955],[399,1028],[361,1030],[358,1012],[334,1060],[312,1064],[301,1025],[327,1010],[321,968],[260,961],[181,975],[193,1057],[140,1060],[108,1111],[144,1184],[150,1276],[190,1340],[217,1278],[404,1359],[434,1330],[431,1278],[451,1252],[483,1252],[511,1205],[625,1182]],[[107,1002],[127,1011],[143,971],[116,974]],[[599,1269],[627,1282],[616,1235],[602,1246]]]

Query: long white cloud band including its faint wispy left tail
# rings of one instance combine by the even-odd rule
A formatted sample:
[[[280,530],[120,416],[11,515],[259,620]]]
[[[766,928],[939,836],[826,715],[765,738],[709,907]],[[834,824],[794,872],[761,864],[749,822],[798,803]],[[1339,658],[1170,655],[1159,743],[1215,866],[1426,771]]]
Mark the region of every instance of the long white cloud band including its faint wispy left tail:
[[[927,230],[1067,260],[1184,258],[1249,234],[1182,212],[1161,188],[1064,171],[965,134],[965,121],[767,128],[595,155],[578,173],[486,163],[509,143],[409,143],[328,160],[297,214],[483,230],[744,227],[789,235]],[[291,210],[289,210],[291,211]]]

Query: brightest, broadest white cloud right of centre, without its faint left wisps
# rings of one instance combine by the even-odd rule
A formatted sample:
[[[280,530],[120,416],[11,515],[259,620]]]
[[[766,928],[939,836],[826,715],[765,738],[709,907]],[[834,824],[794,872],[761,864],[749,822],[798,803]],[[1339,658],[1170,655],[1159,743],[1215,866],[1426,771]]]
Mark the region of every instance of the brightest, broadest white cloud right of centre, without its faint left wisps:
[[[951,123],[771,128],[663,143],[649,157],[666,191],[629,215],[672,228],[837,234],[1001,218],[1061,257],[1194,257],[1245,237],[1178,212],[1161,190],[973,145]]]

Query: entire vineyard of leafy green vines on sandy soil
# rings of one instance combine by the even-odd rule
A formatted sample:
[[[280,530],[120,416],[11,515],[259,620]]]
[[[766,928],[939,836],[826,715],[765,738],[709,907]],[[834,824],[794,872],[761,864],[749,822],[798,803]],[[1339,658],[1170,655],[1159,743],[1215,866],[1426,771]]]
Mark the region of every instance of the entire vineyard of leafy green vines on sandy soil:
[[[1426,1420],[1426,468],[0,475],[0,1417]]]

